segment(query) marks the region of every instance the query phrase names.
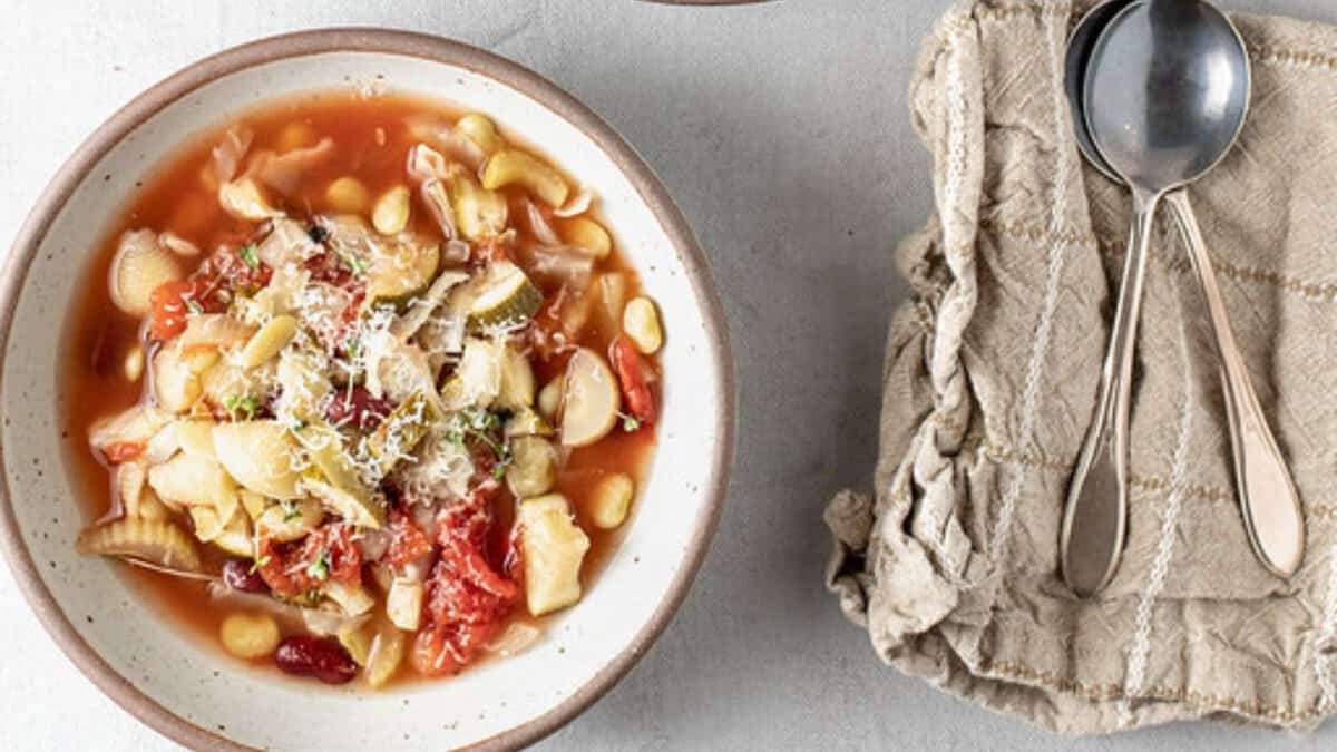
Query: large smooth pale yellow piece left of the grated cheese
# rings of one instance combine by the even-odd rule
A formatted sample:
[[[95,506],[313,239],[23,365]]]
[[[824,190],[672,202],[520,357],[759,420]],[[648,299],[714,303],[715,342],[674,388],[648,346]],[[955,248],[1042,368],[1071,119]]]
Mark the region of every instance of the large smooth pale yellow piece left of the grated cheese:
[[[301,495],[297,442],[277,420],[221,423],[214,427],[214,448],[243,487],[275,499]]]

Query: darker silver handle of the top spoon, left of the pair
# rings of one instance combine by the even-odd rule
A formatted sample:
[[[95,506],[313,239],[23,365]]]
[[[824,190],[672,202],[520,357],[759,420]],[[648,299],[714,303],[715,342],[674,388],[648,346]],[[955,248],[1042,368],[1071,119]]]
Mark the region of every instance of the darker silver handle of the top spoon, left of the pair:
[[[1082,597],[1114,578],[1128,519],[1128,400],[1138,341],[1142,282],[1159,195],[1134,191],[1132,227],[1095,415],[1068,482],[1059,558],[1063,579]]]

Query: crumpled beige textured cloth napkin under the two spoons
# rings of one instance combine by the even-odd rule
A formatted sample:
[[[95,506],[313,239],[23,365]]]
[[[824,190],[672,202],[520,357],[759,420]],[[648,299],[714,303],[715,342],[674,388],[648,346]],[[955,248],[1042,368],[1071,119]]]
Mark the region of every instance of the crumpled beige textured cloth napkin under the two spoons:
[[[888,662],[1052,729],[1312,728],[1337,711],[1337,31],[1238,17],[1251,118],[1191,191],[1300,487],[1304,567],[1281,581],[1250,551],[1203,301],[1162,217],[1127,553],[1079,601],[1058,577],[1062,499],[1130,203],[1082,165],[1060,90],[1090,4],[961,4],[925,43],[912,102],[937,211],[897,252],[915,298],[890,324],[876,492],[828,507],[829,586]]]

